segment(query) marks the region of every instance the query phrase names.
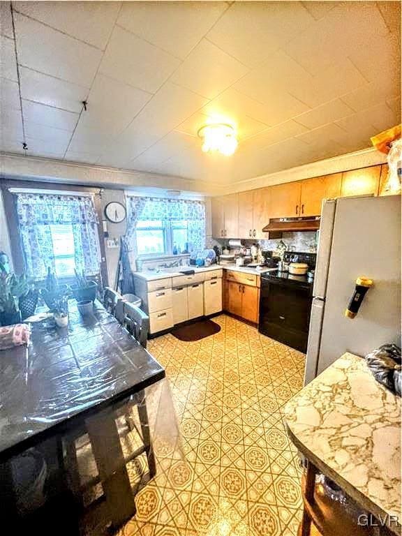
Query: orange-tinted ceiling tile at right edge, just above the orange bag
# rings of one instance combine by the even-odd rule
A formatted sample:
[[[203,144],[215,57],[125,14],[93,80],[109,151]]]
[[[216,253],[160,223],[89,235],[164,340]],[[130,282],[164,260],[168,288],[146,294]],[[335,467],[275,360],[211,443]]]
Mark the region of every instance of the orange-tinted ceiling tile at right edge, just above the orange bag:
[[[389,78],[380,79],[343,95],[341,99],[352,110],[359,112],[359,110],[364,110],[399,95],[400,88],[398,85],[394,83],[394,80],[389,80]]]

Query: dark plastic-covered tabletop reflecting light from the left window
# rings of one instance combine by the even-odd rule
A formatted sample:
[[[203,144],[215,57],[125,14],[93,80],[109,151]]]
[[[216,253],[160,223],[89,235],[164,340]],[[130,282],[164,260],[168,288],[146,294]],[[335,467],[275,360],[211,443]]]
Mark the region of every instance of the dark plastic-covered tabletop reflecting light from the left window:
[[[83,318],[69,303],[68,327],[31,324],[29,346],[0,350],[0,458],[154,384],[165,371],[96,302]]]

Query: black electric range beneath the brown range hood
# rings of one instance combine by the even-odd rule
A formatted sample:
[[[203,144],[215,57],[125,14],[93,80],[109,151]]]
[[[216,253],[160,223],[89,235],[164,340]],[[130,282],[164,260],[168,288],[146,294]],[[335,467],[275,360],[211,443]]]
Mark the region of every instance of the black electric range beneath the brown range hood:
[[[285,260],[307,262],[315,268],[314,253],[285,253]],[[301,352],[307,350],[313,281],[289,272],[261,274],[260,318],[258,330],[276,341]]]

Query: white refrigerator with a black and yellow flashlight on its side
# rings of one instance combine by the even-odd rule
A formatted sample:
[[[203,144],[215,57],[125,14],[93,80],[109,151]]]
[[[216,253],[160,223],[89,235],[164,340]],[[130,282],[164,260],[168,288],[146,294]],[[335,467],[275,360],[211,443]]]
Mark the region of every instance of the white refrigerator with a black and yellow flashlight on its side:
[[[373,279],[354,319],[345,309],[359,276]],[[401,197],[322,204],[305,385],[345,352],[401,345]]]

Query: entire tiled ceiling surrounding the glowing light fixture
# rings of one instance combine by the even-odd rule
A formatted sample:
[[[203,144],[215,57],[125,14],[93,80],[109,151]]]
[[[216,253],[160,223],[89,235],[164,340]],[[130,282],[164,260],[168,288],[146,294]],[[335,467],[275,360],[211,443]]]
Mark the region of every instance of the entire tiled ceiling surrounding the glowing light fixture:
[[[396,2],[14,5],[28,154],[230,184],[371,147],[400,121]],[[0,7],[1,149],[21,154]],[[232,157],[202,153],[211,121],[236,129]]]

